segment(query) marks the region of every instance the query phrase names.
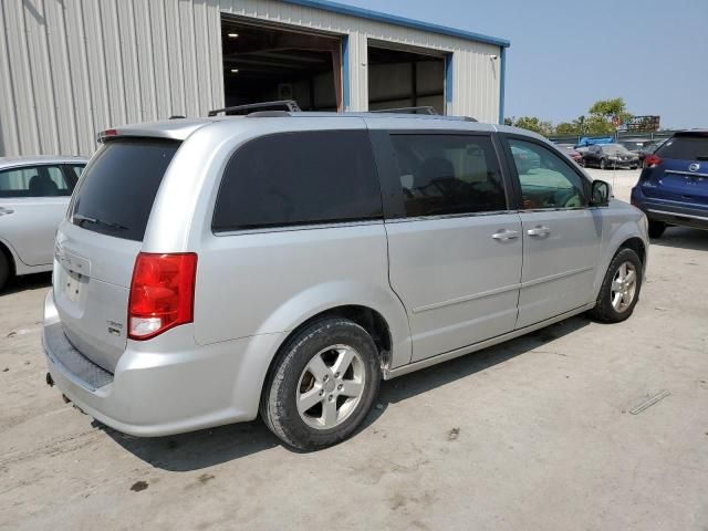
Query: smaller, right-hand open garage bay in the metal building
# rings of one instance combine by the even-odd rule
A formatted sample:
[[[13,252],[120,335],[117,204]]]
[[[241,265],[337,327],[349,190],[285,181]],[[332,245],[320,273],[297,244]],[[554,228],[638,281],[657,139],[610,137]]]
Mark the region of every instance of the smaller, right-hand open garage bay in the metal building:
[[[368,46],[368,108],[433,106],[445,114],[445,58]]]

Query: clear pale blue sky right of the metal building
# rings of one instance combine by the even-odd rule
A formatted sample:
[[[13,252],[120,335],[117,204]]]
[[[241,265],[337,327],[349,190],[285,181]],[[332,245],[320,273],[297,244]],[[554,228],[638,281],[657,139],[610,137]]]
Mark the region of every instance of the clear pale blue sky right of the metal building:
[[[337,0],[511,41],[506,116],[553,123],[624,97],[662,127],[708,127],[708,0]]]

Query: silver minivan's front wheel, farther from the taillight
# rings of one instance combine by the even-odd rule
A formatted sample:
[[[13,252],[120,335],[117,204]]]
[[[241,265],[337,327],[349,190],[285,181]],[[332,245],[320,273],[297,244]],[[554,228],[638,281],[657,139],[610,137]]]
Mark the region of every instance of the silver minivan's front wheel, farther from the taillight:
[[[642,260],[632,249],[621,249],[612,259],[590,315],[605,323],[618,323],[632,315],[642,289]]]

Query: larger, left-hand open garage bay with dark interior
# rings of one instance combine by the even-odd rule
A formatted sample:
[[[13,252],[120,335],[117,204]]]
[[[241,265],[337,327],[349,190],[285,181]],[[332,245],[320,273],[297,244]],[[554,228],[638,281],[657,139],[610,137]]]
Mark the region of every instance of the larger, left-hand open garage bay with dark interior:
[[[226,106],[294,100],[303,111],[342,110],[340,38],[221,17]]]

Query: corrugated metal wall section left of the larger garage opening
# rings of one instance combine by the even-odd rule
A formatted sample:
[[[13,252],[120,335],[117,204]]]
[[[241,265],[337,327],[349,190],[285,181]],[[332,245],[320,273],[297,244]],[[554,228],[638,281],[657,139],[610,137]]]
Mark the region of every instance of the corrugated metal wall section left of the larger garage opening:
[[[223,101],[217,0],[1,0],[0,29],[0,156]]]

